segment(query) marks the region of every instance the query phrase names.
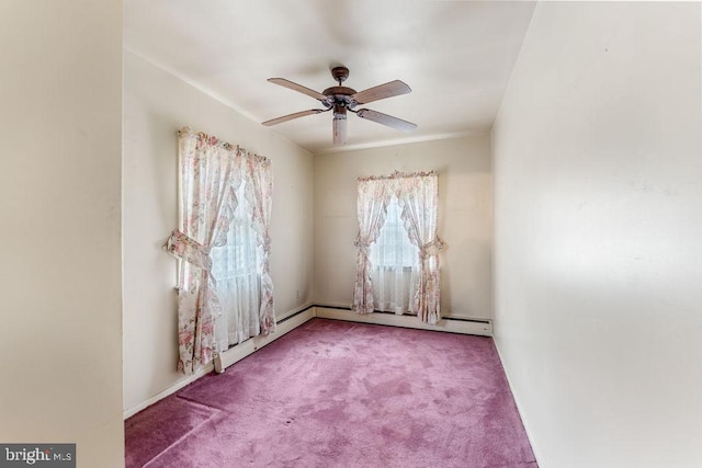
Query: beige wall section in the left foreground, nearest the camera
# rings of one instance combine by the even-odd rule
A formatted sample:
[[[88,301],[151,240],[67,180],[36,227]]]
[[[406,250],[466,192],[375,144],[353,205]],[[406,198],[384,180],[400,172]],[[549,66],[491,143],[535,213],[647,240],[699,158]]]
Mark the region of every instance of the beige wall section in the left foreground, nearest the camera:
[[[0,44],[0,442],[124,466],[122,2],[3,1]]]

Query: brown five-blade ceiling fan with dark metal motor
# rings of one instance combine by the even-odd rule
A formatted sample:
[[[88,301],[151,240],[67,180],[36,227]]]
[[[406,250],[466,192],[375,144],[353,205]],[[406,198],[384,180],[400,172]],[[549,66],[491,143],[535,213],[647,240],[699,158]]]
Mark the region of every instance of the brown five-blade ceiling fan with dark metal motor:
[[[347,142],[347,111],[354,113],[361,118],[377,122],[378,124],[387,125],[388,127],[396,128],[400,132],[409,133],[417,128],[417,125],[411,122],[403,121],[401,118],[393,117],[392,115],[383,114],[382,112],[372,111],[370,109],[355,109],[359,104],[367,104],[369,102],[411,92],[411,89],[400,80],[390,81],[385,84],[370,88],[365,91],[356,92],[355,90],[341,84],[347,78],[349,78],[348,68],[335,67],[331,69],[331,76],[339,85],[327,88],[320,93],[284,78],[269,78],[268,81],[271,83],[280,84],[281,87],[288,88],[293,91],[307,94],[308,96],[318,100],[325,109],[310,109],[309,111],[296,112],[294,114],[265,121],[262,124],[271,126],[292,121],[293,118],[304,117],[305,115],[333,111],[332,130],[335,145],[344,145]]]

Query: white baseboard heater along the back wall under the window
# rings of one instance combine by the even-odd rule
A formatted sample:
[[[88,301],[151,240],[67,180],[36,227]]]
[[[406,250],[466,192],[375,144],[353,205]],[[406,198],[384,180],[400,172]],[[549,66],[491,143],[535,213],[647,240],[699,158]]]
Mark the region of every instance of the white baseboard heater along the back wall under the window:
[[[443,331],[449,333],[477,334],[480,336],[492,336],[492,323],[489,321],[454,320],[444,318],[437,324],[420,321],[414,316],[398,316],[395,313],[356,313],[336,307],[315,307],[316,317],[324,319],[347,320],[361,323],[373,323],[381,326],[404,327],[418,330]]]

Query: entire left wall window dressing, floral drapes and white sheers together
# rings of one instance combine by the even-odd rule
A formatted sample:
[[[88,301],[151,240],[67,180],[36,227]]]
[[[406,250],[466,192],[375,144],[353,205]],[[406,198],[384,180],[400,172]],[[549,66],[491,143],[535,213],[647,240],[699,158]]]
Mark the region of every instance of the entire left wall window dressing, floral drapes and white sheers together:
[[[182,222],[165,249],[182,260],[178,369],[192,374],[215,352],[274,330],[272,176],[268,159],[188,127],[179,156]]]

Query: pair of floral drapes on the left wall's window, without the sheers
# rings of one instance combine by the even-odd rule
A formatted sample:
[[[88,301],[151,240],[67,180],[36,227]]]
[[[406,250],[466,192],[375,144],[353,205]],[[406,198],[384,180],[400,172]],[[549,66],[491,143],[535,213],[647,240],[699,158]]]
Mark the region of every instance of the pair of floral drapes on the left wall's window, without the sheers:
[[[178,369],[192,374],[211,362],[217,350],[214,320],[220,316],[222,305],[212,273],[211,251],[227,243],[238,204],[236,191],[245,180],[246,185],[262,186],[251,190],[250,199],[247,193],[247,199],[252,206],[254,226],[268,226],[272,179],[268,159],[204,133],[195,134],[188,127],[179,132],[179,152],[182,224],[171,233],[165,249],[183,260],[178,289]],[[265,277],[262,296],[268,298],[262,330],[270,332],[274,329],[270,323],[274,317],[268,266],[270,238],[267,227],[262,231],[263,240],[259,243],[269,246],[261,265],[261,276]]]

